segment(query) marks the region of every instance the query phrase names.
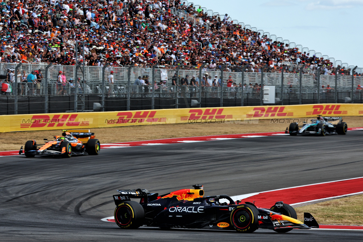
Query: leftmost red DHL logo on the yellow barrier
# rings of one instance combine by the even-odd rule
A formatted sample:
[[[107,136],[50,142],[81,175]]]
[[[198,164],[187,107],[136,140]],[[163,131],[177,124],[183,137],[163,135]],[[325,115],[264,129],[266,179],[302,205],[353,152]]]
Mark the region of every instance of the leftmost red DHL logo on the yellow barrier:
[[[63,126],[88,126],[93,119],[80,119],[78,114],[56,114],[56,115],[33,115],[30,119],[21,120],[21,128],[41,128],[41,127],[63,127]]]

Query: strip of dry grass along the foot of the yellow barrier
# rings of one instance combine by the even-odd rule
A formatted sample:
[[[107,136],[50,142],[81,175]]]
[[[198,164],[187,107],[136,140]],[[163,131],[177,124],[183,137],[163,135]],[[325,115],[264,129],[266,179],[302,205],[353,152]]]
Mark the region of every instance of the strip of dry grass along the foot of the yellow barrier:
[[[344,122],[347,122],[348,127],[361,127],[363,126],[363,117],[344,117]],[[96,138],[105,144],[189,136],[285,131],[288,126],[288,123],[274,124],[270,122],[270,119],[261,119],[252,120],[251,122],[181,123],[93,128],[91,132],[94,132]],[[2,140],[0,151],[20,149],[26,140],[31,139],[41,143],[44,138],[53,139],[54,135],[61,135],[61,133],[61,130],[0,133]]]

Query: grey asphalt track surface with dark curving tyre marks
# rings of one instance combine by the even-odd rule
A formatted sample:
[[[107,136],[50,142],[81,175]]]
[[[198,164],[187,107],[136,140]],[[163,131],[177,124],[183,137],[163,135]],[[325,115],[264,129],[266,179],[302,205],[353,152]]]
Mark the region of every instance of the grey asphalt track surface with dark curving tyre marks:
[[[203,184],[206,195],[261,192],[360,177],[362,132],[270,136],[200,143],[103,149],[70,159],[12,156],[0,160],[1,241],[354,241],[356,231],[293,230],[253,234],[153,228],[121,230],[115,189],[168,192]]]

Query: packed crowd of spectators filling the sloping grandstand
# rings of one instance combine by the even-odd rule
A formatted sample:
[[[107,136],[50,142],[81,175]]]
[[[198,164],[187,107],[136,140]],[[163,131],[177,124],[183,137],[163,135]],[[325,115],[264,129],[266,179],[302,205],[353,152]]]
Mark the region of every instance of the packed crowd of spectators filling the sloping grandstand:
[[[335,74],[329,60],[301,53],[288,44],[244,29],[228,15],[208,16],[200,7],[181,0],[0,0],[0,62],[45,62],[86,65],[198,68],[229,71],[281,71],[286,62],[321,67]],[[173,14],[171,8],[198,21]],[[124,9],[121,15],[119,9]],[[175,12],[174,12],[175,13]],[[76,42],[85,42],[76,58]],[[82,45],[79,46],[82,48]],[[286,69],[298,72],[298,69]],[[339,70],[350,74],[350,70]]]

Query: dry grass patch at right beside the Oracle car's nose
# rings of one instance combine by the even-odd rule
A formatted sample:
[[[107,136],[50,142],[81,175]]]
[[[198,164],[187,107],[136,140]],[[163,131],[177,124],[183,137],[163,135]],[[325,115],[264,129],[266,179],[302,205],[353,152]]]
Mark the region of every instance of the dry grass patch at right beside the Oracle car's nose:
[[[339,198],[295,208],[297,218],[304,219],[304,212],[311,213],[319,224],[363,225],[363,195]]]

